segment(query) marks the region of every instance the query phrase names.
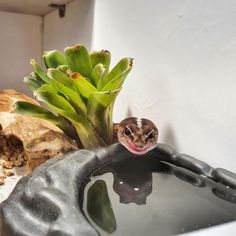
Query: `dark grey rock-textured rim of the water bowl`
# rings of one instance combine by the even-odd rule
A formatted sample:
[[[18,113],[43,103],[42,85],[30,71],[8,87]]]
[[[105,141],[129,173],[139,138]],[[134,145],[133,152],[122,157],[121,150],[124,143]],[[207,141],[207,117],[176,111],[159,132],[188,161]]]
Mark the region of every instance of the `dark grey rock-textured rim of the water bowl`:
[[[83,189],[91,173],[110,162],[119,164],[129,158],[153,158],[170,162],[189,171],[205,176],[204,181],[227,180],[233,188],[235,176],[223,169],[216,170],[206,163],[184,154],[178,154],[171,147],[159,144],[156,149],[140,157],[131,154],[120,144],[94,151],[79,150],[47,161],[31,175],[23,177],[9,198],[0,205],[0,235],[2,236],[95,236],[99,235],[87,222],[82,213]],[[210,171],[209,171],[210,170]],[[174,173],[177,177],[204,187],[203,182],[193,181],[187,175]],[[234,189],[229,191],[227,201],[236,202]],[[221,190],[213,193],[225,198]]]

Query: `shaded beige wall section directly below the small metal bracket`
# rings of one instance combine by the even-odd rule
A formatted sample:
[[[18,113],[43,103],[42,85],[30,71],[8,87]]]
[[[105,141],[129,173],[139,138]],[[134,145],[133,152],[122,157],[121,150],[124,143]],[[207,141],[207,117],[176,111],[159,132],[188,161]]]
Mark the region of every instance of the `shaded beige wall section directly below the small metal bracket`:
[[[64,48],[77,43],[91,47],[93,35],[94,0],[76,0],[66,5],[66,15],[53,11],[44,17],[43,49]]]

